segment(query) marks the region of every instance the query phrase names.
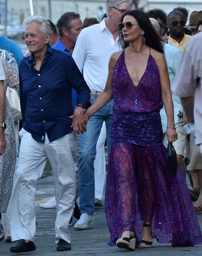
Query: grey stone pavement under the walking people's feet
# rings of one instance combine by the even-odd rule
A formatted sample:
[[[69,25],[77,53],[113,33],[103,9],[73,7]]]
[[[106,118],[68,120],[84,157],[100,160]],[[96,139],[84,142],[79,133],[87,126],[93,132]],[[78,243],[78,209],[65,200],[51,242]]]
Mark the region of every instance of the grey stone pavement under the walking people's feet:
[[[37,184],[36,192],[36,236],[35,244],[36,251],[30,253],[14,254],[9,251],[11,246],[16,243],[5,243],[5,239],[0,242],[0,255],[140,255],[140,256],[156,256],[156,255],[202,255],[202,245],[194,247],[175,247],[171,244],[159,244],[153,241],[153,247],[150,249],[135,249],[135,251],[127,251],[119,249],[116,246],[110,247],[107,245],[110,239],[110,233],[106,224],[104,207],[95,209],[94,217],[95,224],[91,225],[87,230],[75,230],[73,225],[70,226],[71,251],[57,252],[56,244],[54,242],[55,230],[54,222],[56,216],[56,209],[44,209],[38,205],[42,199],[54,196],[53,177],[41,178]],[[103,200],[104,201],[104,200]],[[202,228],[202,212],[197,213],[199,224]],[[2,230],[3,232],[3,230]]]

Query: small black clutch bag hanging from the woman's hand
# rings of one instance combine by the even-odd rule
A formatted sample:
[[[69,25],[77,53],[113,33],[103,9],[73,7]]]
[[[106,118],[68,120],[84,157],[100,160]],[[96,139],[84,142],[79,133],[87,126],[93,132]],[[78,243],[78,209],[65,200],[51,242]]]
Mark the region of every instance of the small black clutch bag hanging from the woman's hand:
[[[165,164],[169,174],[174,178],[177,173],[177,154],[173,147],[173,144],[168,141],[168,147],[165,155]]]

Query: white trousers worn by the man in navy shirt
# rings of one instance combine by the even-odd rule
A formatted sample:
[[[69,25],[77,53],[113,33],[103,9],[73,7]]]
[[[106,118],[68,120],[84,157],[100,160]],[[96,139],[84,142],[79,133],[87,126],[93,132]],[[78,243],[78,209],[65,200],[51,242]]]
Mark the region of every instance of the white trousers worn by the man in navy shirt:
[[[45,143],[32,138],[24,129],[16,177],[11,195],[11,238],[12,241],[27,239],[34,241],[36,232],[35,192],[37,179],[49,159],[55,186],[57,216],[55,220],[55,243],[60,239],[70,243],[68,225],[74,210],[76,175],[74,154],[76,133],[71,132],[53,142],[45,136]]]

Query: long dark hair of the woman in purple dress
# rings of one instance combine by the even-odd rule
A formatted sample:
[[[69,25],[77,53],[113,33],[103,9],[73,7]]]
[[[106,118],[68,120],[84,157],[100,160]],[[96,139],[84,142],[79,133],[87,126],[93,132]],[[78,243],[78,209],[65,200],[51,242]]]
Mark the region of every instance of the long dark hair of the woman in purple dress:
[[[161,37],[153,28],[147,14],[140,10],[131,10],[123,15],[121,22],[123,22],[123,19],[126,15],[133,16],[137,20],[139,27],[144,30],[146,45],[164,54],[164,47]],[[122,49],[125,49],[129,46],[128,42],[124,41],[122,32],[120,32],[119,35],[119,45]]]

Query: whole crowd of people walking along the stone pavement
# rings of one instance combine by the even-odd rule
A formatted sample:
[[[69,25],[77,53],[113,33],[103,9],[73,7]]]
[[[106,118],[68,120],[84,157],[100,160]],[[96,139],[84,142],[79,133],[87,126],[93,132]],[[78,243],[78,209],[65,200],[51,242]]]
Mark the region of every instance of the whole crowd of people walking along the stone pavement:
[[[202,11],[186,26],[185,8],[167,15],[131,6],[106,0],[100,23],[75,12],[56,26],[29,16],[24,57],[0,36],[10,57],[0,58],[0,212],[6,242],[17,242],[13,253],[36,250],[36,184],[48,160],[55,197],[40,207],[56,208],[57,251],[71,250],[73,218],[78,230],[94,224],[104,186],[108,245],[133,251],[152,247],[154,238],[174,247],[202,243],[195,214],[202,211],[202,33],[195,35]],[[18,158],[8,86],[20,92]],[[193,121],[189,134],[184,125]],[[177,155],[174,178],[165,164],[168,142]]]

